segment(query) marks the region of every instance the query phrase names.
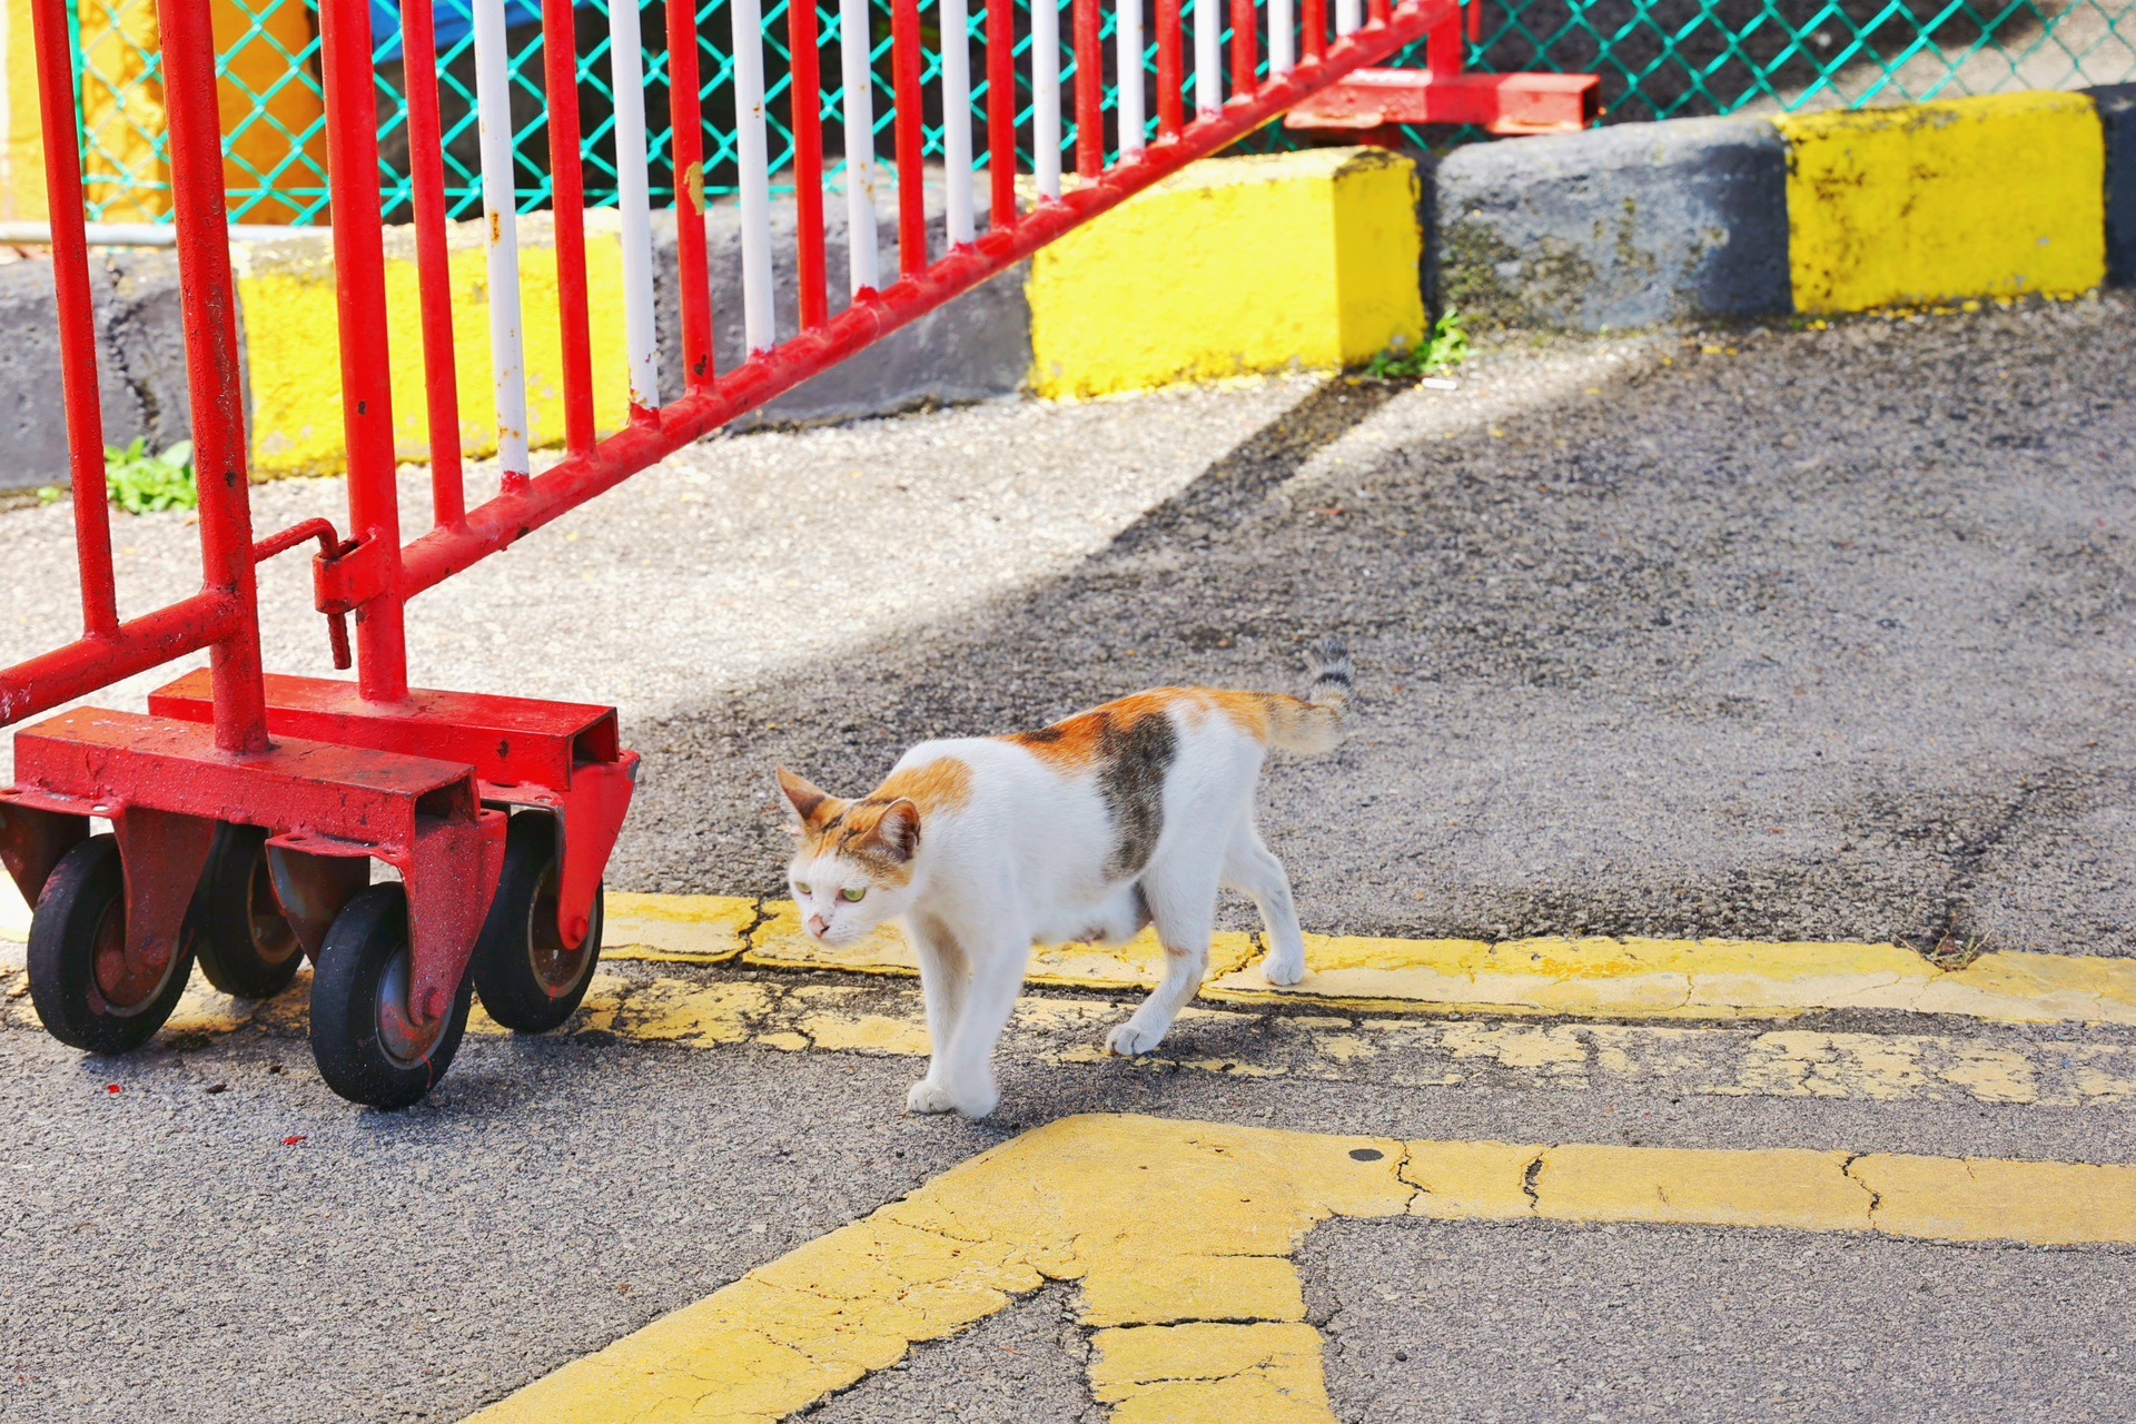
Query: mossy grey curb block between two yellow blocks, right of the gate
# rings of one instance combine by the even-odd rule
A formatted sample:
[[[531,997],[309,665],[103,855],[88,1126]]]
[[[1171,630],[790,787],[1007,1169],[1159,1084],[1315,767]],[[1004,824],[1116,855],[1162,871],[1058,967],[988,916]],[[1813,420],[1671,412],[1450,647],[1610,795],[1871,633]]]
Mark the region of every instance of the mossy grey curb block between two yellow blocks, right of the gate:
[[[1764,120],[1476,143],[1431,194],[1433,301],[1480,327],[1788,310],[1786,149]]]

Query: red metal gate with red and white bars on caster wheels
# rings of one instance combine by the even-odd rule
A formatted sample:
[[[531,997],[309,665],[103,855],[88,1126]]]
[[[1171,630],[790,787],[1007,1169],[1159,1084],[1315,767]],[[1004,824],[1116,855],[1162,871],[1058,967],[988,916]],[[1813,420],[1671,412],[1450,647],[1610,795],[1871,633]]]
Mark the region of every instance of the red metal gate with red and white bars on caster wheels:
[[[254,540],[239,408],[239,350],[224,226],[216,56],[205,0],[160,0],[164,90],[186,357],[201,495],[201,591],[120,621],[113,596],[94,314],[75,141],[66,0],[32,0],[47,135],[53,269],[66,352],[73,508],[83,636],[0,673],[0,724],[73,702],[117,679],[205,649],[209,670],[150,698],[147,715],[75,709],[15,737],[15,788],[0,792],[0,858],[36,903],[30,971],[45,1025],[92,1050],[143,1042],[169,1014],[194,959],[233,993],[273,993],[316,963],[312,1044],[335,1091],[397,1106],[449,1063],[470,993],[506,1027],[562,1023],[592,974],[600,877],[630,803],[637,758],[607,707],[408,687],[406,604],[459,570],[585,504],[669,453],[837,365],[889,331],[1017,265],[1034,250],[1183,164],[1222,149],[1361,66],[1427,34],[1459,45],[1457,0],[1230,0],[1230,64],[1218,0],[1156,0],[1158,113],[1145,141],[1141,90],[1121,90],[1117,162],[1106,164],[1102,0],[1070,0],[1074,83],[1062,94],[1059,11],[1040,2],[1032,34],[1034,201],[1019,203],[1008,0],[985,0],[989,222],[978,231],[970,120],[970,15],[938,0],[948,135],[946,250],[929,250],[921,169],[918,0],[899,0],[895,62],[897,278],[876,273],[874,158],[848,154],[850,305],[831,316],[824,263],[822,81],[816,6],[790,6],[801,329],[771,318],[763,45],[756,0],[735,0],[748,361],[713,369],[694,6],[669,4],[675,56],[675,171],[681,263],[681,395],[658,404],[651,243],[637,6],[611,17],[622,169],[624,288],[632,412],[596,440],[585,297],[581,135],[570,0],[545,0],[549,143],[564,335],[564,457],[532,476],[517,310],[511,124],[502,0],[476,0],[485,122],[491,346],[500,412],[498,491],[468,508],[446,284],[444,177],[429,0],[404,0],[414,154],[417,260],[431,429],[431,529],[402,544],[370,0],[323,0],[333,254],[348,446],[348,525],[305,521]],[[852,11],[859,9],[859,19]],[[865,4],[846,2],[846,111],[867,128]],[[1115,11],[1121,73],[1141,70],[1141,2]],[[1269,73],[1260,75],[1267,34]],[[850,43],[859,34],[859,43]],[[1190,58],[1192,47],[1192,58]],[[1455,62],[1455,68],[1459,64]],[[1226,83],[1228,79],[1228,83]],[[1228,94],[1226,94],[1228,88]],[[1074,181],[1062,177],[1064,107],[1074,115]],[[701,181],[696,184],[701,186]],[[355,681],[261,668],[254,564],[312,544],[316,604],[335,666]],[[92,837],[107,818],[111,837]],[[399,884],[370,884],[370,863]]]

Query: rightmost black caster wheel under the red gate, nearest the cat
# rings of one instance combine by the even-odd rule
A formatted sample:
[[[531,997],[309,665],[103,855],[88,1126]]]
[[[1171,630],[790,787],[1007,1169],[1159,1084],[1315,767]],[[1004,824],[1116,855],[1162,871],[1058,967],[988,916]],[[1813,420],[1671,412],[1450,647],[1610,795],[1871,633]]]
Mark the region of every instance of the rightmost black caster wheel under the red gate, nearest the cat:
[[[562,877],[555,820],[538,811],[513,816],[498,899],[474,942],[474,991],[489,1016],[515,1033],[547,1033],[570,1018],[600,963],[602,892],[594,890],[585,942],[566,950],[555,927]]]

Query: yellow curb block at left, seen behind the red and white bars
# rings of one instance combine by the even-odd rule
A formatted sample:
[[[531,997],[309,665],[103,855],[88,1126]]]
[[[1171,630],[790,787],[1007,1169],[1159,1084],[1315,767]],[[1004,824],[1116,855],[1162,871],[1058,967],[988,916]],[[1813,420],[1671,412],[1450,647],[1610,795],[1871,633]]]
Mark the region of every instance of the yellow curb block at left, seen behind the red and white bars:
[[[519,292],[525,320],[528,421],[534,446],[564,442],[564,337],[555,299],[555,248],[545,216],[519,220]],[[624,248],[613,209],[587,213],[587,307],[594,335],[594,414],[602,431],[630,418],[624,346]],[[451,246],[453,344],[459,431],[466,455],[493,455],[498,414],[489,361],[489,269],[483,224],[459,224]],[[246,369],[252,380],[252,472],[340,474],[340,320],[331,239],[239,246]],[[423,327],[408,228],[387,237],[387,327],[393,342],[393,429],[404,461],[429,459]]]

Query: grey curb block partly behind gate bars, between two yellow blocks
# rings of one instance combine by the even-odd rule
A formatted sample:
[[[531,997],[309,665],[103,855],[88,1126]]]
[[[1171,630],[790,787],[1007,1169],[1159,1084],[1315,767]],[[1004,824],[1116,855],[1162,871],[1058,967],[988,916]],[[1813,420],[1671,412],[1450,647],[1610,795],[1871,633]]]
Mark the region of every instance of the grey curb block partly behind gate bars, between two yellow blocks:
[[[987,222],[985,207],[978,213]],[[824,196],[824,250],[831,314],[850,303],[844,194]],[[897,278],[895,211],[878,231],[884,282]],[[927,194],[927,250],[948,248],[940,190]],[[792,265],[795,203],[771,205],[773,314],[778,339],[801,329],[801,297]],[[745,352],[741,325],[741,211],[713,203],[705,213],[705,260],[711,269],[713,361],[735,369]],[[1019,391],[1032,367],[1032,312],[1023,295],[1025,269],[1015,267],[951,305],[893,331],[852,361],[788,391],[735,425],[848,421],[916,406],[948,406]],[[681,393],[681,292],[675,263],[675,213],[654,216],[654,305],[660,312],[660,393]]]

